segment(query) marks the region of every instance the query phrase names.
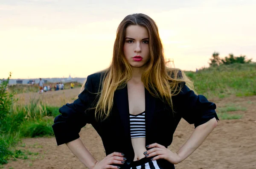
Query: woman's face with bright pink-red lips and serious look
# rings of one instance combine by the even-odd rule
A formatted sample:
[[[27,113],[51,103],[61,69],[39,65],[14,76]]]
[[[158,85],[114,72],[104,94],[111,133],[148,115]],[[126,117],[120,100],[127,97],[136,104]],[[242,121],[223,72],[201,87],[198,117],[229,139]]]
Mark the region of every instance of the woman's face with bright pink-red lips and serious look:
[[[143,67],[150,59],[148,31],[143,26],[130,25],[126,28],[124,54],[132,67]]]

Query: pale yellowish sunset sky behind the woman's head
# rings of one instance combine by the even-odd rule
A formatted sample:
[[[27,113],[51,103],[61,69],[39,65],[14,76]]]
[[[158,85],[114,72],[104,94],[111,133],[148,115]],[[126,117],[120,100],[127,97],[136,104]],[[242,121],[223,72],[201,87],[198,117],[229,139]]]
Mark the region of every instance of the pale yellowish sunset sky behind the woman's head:
[[[182,70],[213,52],[256,62],[256,0],[0,0],[0,78],[87,77],[107,68],[119,23],[144,13]]]

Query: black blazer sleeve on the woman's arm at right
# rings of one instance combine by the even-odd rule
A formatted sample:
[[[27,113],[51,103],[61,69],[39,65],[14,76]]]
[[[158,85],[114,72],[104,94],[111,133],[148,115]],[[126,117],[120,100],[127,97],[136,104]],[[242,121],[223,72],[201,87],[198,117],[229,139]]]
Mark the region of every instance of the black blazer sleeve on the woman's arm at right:
[[[176,108],[183,119],[190,124],[194,124],[195,127],[206,123],[214,117],[217,121],[219,120],[215,112],[215,103],[209,102],[203,95],[196,95],[194,91],[186,86],[185,82],[180,84],[182,88],[177,95],[178,103]]]

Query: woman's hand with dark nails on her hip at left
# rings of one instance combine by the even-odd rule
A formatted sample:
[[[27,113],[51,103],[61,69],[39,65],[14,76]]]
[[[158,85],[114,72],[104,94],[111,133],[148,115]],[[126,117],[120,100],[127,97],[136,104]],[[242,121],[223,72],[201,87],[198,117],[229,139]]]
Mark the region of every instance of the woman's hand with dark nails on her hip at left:
[[[124,154],[120,152],[113,152],[101,161],[97,161],[92,169],[119,169],[119,166],[113,166],[111,164],[123,164],[126,158]]]

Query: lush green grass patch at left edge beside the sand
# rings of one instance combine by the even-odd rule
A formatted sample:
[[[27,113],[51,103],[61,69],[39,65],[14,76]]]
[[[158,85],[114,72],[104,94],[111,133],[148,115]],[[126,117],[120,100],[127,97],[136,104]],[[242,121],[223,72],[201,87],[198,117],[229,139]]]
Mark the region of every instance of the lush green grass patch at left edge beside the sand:
[[[11,109],[11,113],[5,117],[4,125],[0,128],[0,164],[16,158],[28,159],[27,154],[30,153],[24,154],[15,149],[20,138],[53,136],[53,117],[59,114],[58,109],[58,107],[42,105],[40,102]]]

